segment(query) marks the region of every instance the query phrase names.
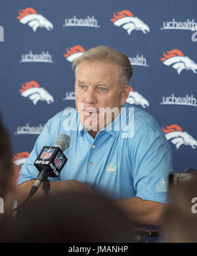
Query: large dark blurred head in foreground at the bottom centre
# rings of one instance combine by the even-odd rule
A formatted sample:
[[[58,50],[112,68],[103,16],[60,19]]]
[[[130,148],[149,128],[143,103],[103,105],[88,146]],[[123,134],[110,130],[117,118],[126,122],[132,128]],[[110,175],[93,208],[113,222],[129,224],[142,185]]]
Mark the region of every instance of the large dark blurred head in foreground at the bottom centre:
[[[0,226],[1,243],[138,242],[125,213],[112,201],[89,193],[37,198]]]

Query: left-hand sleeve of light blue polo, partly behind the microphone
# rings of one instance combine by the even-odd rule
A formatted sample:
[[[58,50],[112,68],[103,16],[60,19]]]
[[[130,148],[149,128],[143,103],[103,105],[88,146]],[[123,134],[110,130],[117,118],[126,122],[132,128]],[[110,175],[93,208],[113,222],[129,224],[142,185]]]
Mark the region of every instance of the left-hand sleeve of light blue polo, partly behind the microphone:
[[[54,140],[53,140],[53,136],[51,136],[50,129],[51,129],[51,120],[49,120],[45,125],[45,128],[43,129],[41,135],[39,135],[39,137],[37,138],[37,141],[35,142],[35,146],[30,156],[22,166],[19,177],[18,177],[18,185],[30,179],[36,179],[37,175],[39,174],[37,168],[35,168],[33,163],[35,162],[35,159],[41,152],[43,146],[53,146]],[[49,180],[58,181],[58,178],[49,177]]]

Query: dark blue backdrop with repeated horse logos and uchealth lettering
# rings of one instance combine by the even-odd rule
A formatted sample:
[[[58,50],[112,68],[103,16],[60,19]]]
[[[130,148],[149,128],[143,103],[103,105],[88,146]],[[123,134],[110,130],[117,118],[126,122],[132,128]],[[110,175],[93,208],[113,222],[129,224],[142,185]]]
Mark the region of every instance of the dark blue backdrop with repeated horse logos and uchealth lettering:
[[[24,164],[47,120],[75,107],[72,62],[90,48],[133,65],[128,102],[153,115],[174,170],[197,168],[196,0],[0,0],[0,111]]]

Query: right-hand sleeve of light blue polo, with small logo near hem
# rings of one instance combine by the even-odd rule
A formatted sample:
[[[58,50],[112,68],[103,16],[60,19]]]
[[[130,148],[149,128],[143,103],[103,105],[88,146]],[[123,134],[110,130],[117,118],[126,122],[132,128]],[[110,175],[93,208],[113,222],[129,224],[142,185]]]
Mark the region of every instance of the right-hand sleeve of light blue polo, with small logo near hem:
[[[173,156],[165,135],[149,130],[133,141],[133,185],[136,197],[166,203],[167,176],[173,170]]]

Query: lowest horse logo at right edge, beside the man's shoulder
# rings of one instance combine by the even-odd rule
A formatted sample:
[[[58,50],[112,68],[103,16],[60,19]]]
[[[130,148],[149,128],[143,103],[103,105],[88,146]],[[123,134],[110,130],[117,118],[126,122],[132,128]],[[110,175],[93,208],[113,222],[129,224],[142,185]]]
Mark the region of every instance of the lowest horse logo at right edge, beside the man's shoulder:
[[[177,149],[181,145],[185,144],[186,146],[191,146],[193,149],[197,147],[197,141],[190,136],[186,131],[183,131],[179,125],[170,125],[165,128],[162,127],[167,141],[171,140],[171,143],[175,144]]]

